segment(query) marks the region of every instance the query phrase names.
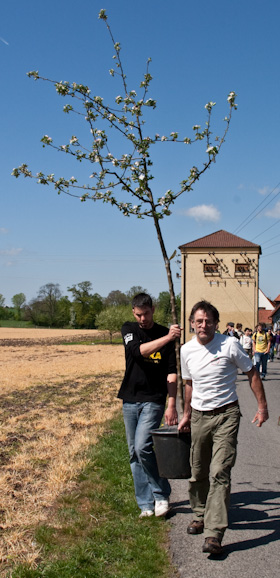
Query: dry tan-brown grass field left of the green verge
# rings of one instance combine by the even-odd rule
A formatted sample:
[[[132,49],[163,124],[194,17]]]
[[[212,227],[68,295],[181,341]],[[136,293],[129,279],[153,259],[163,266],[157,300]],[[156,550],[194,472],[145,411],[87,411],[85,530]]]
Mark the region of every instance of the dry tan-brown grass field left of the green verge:
[[[120,408],[121,345],[60,345],[93,331],[0,328],[0,576],[36,564],[33,529],[75,488],[107,419]],[[73,339],[74,337],[74,339]]]

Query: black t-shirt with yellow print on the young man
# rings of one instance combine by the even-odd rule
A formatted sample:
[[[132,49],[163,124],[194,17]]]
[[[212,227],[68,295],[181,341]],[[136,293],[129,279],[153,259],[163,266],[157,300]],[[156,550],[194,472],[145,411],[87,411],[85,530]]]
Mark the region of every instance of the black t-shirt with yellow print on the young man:
[[[127,321],[122,326],[126,370],[118,397],[135,403],[165,404],[167,375],[177,373],[174,342],[152,353],[148,358],[140,353],[141,343],[167,335],[167,327],[154,323],[151,329],[141,329],[138,323]]]

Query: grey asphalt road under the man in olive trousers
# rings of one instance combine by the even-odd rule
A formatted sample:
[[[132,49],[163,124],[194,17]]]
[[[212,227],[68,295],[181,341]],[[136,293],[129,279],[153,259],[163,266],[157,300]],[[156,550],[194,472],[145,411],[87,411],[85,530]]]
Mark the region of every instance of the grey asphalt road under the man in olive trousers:
[[[275,578],[280,574],[280,360],[268,364],[264,386],[270,417],[258,428],[251,423],[257,405],[248,378],[238,376],[242,418],[232,470],[229,528],[221,556],[202,552],[203,534],[187,534],[192,520],[188,481],[171,481],[171,553],[180,578]]]

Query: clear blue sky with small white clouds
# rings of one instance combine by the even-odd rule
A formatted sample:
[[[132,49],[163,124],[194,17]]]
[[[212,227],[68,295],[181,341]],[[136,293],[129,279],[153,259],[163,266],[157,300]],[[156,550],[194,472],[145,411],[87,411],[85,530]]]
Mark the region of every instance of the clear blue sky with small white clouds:
[[[277,0],[10,0],[0,9],[1,194],[0,293],[6,304],[19,292],[27,300],[46,283],[67,287],[91,281],[103,297],[111,290],[141,285],[157,296],[167,281],[150,219],[125,218],[102,203],[58,196],[49,186],[15,179],[26,162],[35,173],[81,177],[88,168],[62,153],[42,148],[50,135],[65,144],[84,134],[80,120],[62,112],[66,104],[47,83],[26,73],[39,70],[54,80],[82,82],[92,93],[113,99],[121,86],[109,75],[113,47],[104,23],[107,10],[130,89],[139,91],[152,58],[147,134],[178,131],[192,136],[206,120],[205,104],[216,102],[212,129],[220,135],[227,95],[237,93],[226,142],[217,162],[191,193],[181,197],[162,222],[171,255],[179,245],[219,229],[262,246],[260,287],[280,293],[279,21]],[[184,148],[185,147],[185,148]],[[205,143],[192,147],[158,143],[153,190],[176,189],[193,164],[203,162]],[[205,160],[205,159],[204,159]],[[257,214],[258,213],[258,214]],[[250,218],[249,215],[251,215]],[[174,265],[176,293],[180,280]],[[71,296],[70,294],[68,294]]]

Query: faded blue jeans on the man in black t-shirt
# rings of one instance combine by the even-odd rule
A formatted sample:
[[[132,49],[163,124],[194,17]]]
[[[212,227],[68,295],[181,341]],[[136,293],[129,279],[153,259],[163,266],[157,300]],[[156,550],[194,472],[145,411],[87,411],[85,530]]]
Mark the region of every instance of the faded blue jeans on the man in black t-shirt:
[[[151,430],[160,426],[164,405],[154,402],[123,404],[123,417],[129,450],[135,496],[140,510],[154,510],[157,500],[167,500],[171,488],[158,473]]]

